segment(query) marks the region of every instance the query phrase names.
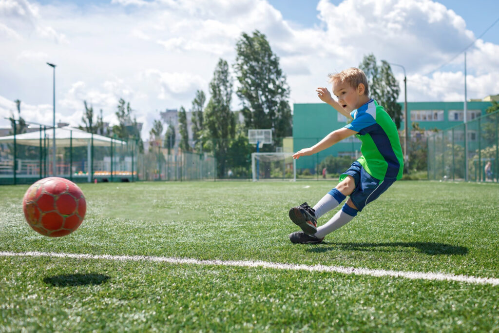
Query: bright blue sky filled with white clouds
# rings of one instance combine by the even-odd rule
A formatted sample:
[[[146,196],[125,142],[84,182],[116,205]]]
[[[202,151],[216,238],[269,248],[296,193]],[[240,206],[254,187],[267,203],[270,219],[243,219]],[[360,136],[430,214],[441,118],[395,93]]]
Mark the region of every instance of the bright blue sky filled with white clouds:
[[[405,68],[408,101],[463,101],[466,49],[467,97],[483,98],[499,94],[498,13],[497,0],[0,0],[0,127],[16,99],[25,120],[52,123],[50,62],[57,122],[82,124],[86,101],[115,124],[123,98],[147,139],[160,111],[189,110],[198,89],[209,97],[218,60],[234,64],[255,29],[291,107],[320,102],[328,73],[370,53]],[[392,71],[403,101],[404,71]]]

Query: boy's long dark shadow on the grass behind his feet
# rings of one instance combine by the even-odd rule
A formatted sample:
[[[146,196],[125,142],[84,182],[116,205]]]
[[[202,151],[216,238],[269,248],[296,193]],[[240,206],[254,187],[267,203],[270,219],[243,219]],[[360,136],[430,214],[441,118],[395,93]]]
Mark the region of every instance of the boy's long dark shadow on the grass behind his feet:
[[[310,252],[326,252],[331,250],[353,250],[353,251],[384,251],[393,252],[390,249],[380,248],[416,248],[427,255],[458,255],[466,256],[468,248],[464,246],[433,243],[433,242],[390,242],[390,243],[321,243],[326,246],[309,249]]]

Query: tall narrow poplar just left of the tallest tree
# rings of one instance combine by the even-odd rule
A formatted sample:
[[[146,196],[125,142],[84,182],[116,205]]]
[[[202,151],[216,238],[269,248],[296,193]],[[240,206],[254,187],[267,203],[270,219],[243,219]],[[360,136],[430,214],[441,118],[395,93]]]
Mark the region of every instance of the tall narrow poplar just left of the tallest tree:
[[[220,59],[210,82],[210,101],[205,110],[205,131],[213,142],[211,149],[217,158],[219,177],[225,175],[229,140],[236,134],[236,116],[231,111],[233,82],[229,64]],[[205,145],[205,147],[209,147]]]

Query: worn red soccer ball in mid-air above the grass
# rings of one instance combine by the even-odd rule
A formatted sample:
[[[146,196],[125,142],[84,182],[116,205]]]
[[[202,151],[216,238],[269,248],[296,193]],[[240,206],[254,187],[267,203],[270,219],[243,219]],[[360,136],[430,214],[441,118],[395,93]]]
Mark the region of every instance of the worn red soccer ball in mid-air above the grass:
[[[59,177],[40,179],[31,185],[22,200],[22,209],[31,228],[43,236],[66,236],[78,229],[87,205],[75,183]]]

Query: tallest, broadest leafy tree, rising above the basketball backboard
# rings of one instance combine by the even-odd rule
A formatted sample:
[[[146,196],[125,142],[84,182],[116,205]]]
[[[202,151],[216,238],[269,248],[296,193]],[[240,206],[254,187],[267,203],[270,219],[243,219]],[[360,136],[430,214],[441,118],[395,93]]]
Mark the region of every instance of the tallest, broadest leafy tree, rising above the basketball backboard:
[[[272,129],[280,139],[291,135],[289,86],[279,67],[279,57],[271,50],[264,34],[255,30],[243,33],[236,45],[234,69],[239,82],[236,91],[247,129]]]

